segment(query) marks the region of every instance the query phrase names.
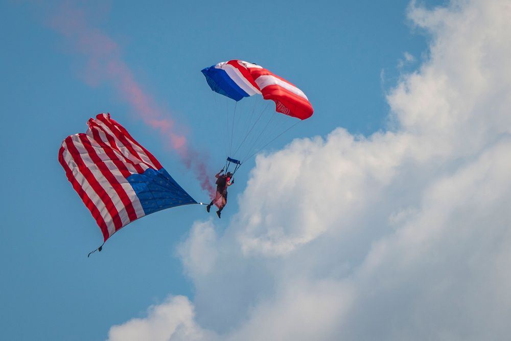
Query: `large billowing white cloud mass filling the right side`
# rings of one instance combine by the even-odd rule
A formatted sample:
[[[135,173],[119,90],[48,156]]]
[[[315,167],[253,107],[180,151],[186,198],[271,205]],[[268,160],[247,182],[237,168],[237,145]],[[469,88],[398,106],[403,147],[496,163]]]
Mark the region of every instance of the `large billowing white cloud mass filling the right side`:
[[[171,299],[112,339],[508,338],[511,3],[409,17],[432,41],[388,96],[396,128],[260,155],[225,233],[196,223],[179,248],[193,306]]]

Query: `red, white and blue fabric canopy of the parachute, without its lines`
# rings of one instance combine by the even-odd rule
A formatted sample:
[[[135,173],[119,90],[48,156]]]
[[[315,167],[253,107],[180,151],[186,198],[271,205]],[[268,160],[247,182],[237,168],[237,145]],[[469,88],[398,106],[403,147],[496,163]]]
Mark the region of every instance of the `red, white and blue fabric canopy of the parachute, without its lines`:
[[[307,96],[295,85],[257,64],[229,60],[201,71],[214,92],[235,101],[255,94],[275,102],[275,110],[300,120],[314,112]]]

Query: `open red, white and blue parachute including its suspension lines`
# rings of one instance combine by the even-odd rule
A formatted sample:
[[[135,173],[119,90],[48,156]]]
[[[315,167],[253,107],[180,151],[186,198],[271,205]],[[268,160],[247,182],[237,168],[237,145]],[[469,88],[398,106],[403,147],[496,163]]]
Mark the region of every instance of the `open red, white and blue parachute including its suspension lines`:
[[[224,127],[220,128],[224,129],[222,135],[226,146],[226,168],[235,164],[234,172],[242,163],[300,122],[289,120],[278,113],[305,120],[314,112],[302,90],[260,65],[233,59],[206,67],[201,72],[214,92],[236,101],[234,106],[226,105],[222,109],[226,119],[222,120]],[[268,105],[259,109],[255,99],[247,105],[244,105],[246,100],[241,101],[241,105],[237,104],[241,99],[257,94],[275,102],[275,111],[266,112]],[[233,112],[232,115],[230,112]],[[219,120],[222,116],[214,117]]]

